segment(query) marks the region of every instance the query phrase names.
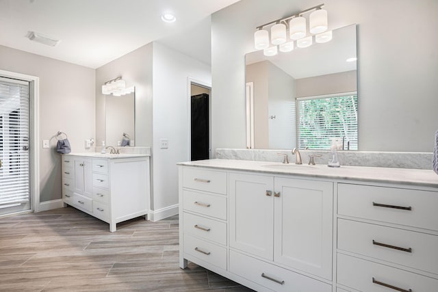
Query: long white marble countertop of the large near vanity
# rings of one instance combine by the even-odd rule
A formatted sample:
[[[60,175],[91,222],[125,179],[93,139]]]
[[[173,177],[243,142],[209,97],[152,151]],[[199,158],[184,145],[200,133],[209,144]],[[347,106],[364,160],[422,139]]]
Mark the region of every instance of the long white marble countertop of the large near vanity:
[[[294,174],[313,178],[331,178],[353,181],[374,181],[378,183],[398,183],[402,185],[419,185],[438,187],[438,174],[433,170],[413,170],[407,168],[374,168],[366,166],[342,165],[329,168],[325,164],[296,165],[272,161],[248,161],[234,159],[209,159],[177,163],[203,168],[223,170],[248,170],[268,174]]]

